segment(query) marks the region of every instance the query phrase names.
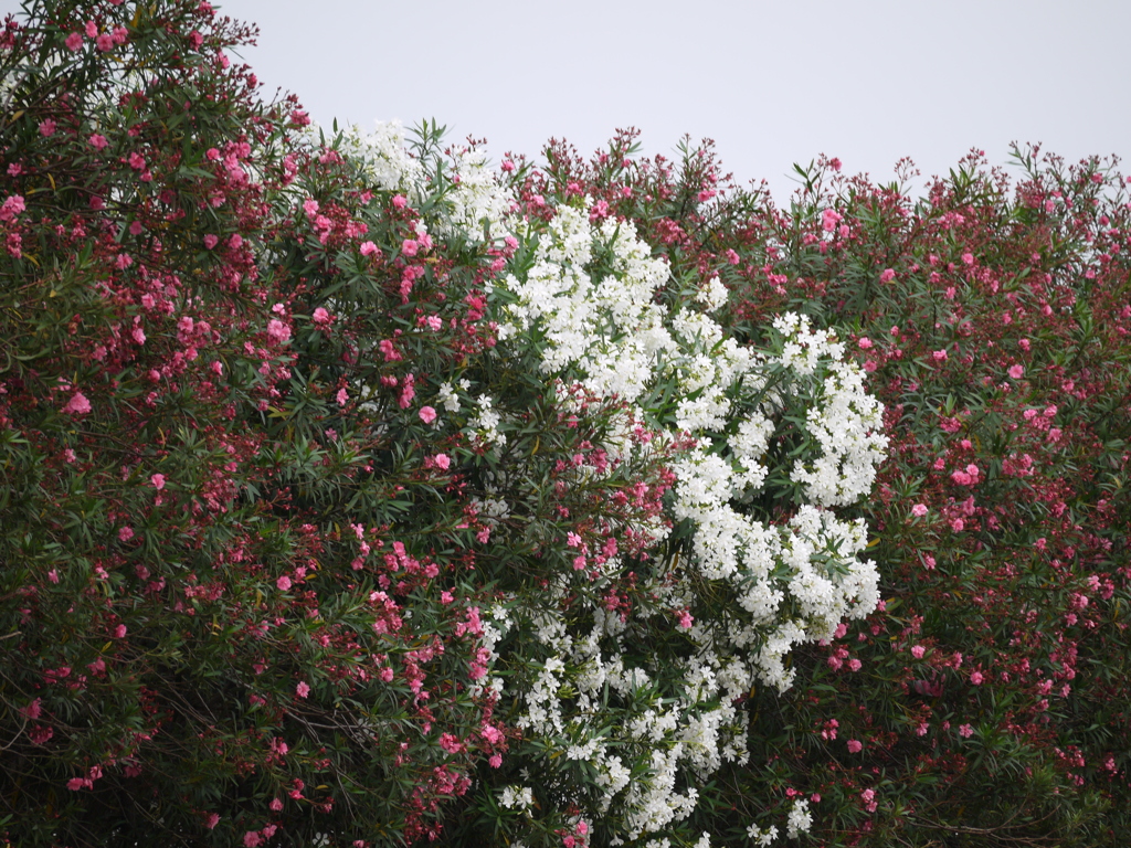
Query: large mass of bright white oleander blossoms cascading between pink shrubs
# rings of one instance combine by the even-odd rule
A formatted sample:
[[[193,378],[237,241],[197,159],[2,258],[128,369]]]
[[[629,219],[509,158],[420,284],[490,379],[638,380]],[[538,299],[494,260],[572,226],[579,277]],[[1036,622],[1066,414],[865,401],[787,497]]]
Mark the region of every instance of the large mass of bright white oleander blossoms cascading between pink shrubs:
[[[694,527],[691,563],[673,564],[649,589],[670,608],[687,608],[696,603],[692,587],[707,579],[734,600],[729,616],[690,628],[698,654],[681,667],[683,694],[674,701],[642,694],[655,691],[648,669],[621,650],[632,622],[595,608],[585,638],[561,622],[539,625],[539,641],[554,656],[532,676],[520,725],[593,767],[604,790],[598,813],[615,804],[624,830],[614,840],[633,840],[691,813],[697,790],[679,788],[681,773],[706,782],[723,762],[745,762],[746,717],[733,704],[756,680],[784,691],[795,675],[785,667],[795,646],[830,638],[844,617],[875,608],[874,564],[858,560],[866,528],[829,508],[853,502],[874,482],[886,447],[877,434],[882,408],[864,391],[860,371],[841,362],[843,346],[803,317],[775,325],[783,337],[775,356],[740,346],[710,318],[725,300],[717,279],[696,297],[706,312],[659,305],[667,266],[650,257],[630,223],[592,224],[584,210],[561,207],[537,239],[528,270],[499,286],[507,304],[500,335],[535,339],[547,374],[629,401],[627,421],[666,424],[670,439],[694,438],[696,447],[672,465],[672,518]],[[563,384],[559,399],[569,408]],[[670,398],[666,406],[659,397]],[[785,525],[765,523],[743,504],[765,486],[782,419],[787,412],[796,419],[798,404],[808,405],[817,456],[803,455],[789,481],[810,502]],[[610,639],[616,649],[603,656],[602,640]],[[619,729],[602,736],[589,728],[607,727],[597,710],[608,692],[624,712]],[[629,780],[623,759],[631,751],[640,752],[646,777]],[[810,822],[808,803],[798,802],[789,834]]]

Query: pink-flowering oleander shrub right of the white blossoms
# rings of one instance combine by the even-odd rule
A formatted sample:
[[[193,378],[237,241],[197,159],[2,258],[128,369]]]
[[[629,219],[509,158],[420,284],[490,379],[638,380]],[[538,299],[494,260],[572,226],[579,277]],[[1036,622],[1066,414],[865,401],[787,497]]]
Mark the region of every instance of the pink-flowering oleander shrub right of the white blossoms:
[[[788,210],[725,187],[709,147],[622,165],[550,150],[637,223],[673,275],[717,275],[719,321],[796,310],[884,403],[891,460],[861,507],[884,602],[797,684],[754,687],[751,762],[689,833],[771,843],[808,799],[826,845],[1115,845],[1126,831],[1125,182],[1019,150],[914,201],[803,171]],[[724,190],[726,189],[726,190]],[[965,840],[965,841],[964,841]],[[948,842],[949,843],[949,842]]]

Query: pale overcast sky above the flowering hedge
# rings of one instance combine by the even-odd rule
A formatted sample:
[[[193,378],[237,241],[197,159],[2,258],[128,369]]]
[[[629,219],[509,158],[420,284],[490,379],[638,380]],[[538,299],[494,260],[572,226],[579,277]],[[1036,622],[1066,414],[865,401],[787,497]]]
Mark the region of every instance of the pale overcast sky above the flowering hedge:
[[[132,0],[128,0],[132,1]],[[0,0],[0,10],[16,0]],[[714,138],[779,201],[820,153],[888,182],[1011,140],[1131,156],[1128,0],[217,0],[259,25],[270,96],[325,126],[435,118],[452,140],[588,156],[618,127],[644,152]],[[1131,170],[1131,165],[1128,165]]]

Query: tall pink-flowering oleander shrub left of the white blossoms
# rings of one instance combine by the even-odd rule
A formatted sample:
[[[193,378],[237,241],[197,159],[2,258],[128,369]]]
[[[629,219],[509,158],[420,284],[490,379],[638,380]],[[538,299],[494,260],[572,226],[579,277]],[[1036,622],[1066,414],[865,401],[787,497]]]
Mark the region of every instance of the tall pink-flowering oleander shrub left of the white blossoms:
[[[208,3],[24,18],[0,44],[9,838],[435,832],[507,737],[460,579],[484,530],[414,379],[486,344],[464,297],[493,258],[405,263],[418,216],[258,101]]]

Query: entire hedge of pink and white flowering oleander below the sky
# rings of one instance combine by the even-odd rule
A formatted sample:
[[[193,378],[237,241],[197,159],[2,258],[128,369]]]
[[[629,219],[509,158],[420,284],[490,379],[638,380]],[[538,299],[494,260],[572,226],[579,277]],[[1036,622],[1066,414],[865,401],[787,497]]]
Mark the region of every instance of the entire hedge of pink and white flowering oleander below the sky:
[[[495,172],[249,35],[0,36],[11,845],[1120,843],[1112,164]]]

